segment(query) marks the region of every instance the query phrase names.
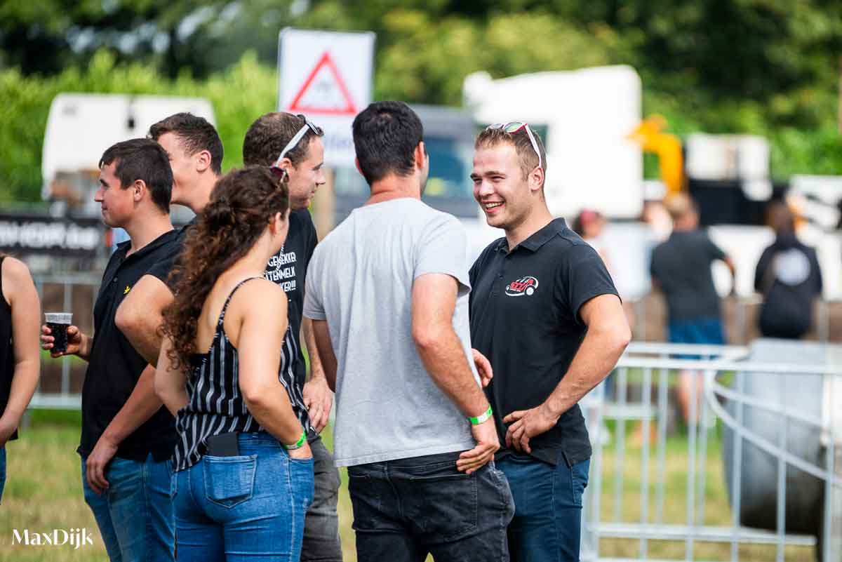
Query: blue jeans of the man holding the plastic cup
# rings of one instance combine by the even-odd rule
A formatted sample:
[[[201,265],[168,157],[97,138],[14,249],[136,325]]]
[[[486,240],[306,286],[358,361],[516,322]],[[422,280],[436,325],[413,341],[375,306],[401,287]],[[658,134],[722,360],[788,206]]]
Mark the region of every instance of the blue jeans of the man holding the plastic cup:
[[[82,459],[85,502],[97,520],[111,562],[172,562],[173,498],[169,461],[115,457],[105,470],[109,487],[100,496],[88,485]]]

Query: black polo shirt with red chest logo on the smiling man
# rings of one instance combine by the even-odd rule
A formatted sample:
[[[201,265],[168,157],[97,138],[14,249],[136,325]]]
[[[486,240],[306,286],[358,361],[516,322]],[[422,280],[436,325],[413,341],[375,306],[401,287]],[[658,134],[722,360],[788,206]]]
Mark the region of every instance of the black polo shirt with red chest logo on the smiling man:
[[[617,294],[600,255],[552,220],[509,252],[505,238],[492,242],[474,262],[471,276],[471,342],[491,362],[485,392],[505,448],[503,418],[541,405],[568,371],[587,331],[584,303]],[[590,458],[588,430],[578,404],[555,427],[530,439],[532,456],[557,464]]]

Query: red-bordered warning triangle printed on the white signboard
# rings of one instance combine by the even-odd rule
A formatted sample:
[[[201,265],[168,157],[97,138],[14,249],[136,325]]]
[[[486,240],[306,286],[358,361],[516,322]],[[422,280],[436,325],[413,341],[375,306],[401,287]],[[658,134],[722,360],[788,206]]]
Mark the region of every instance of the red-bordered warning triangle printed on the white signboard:
[[[357,114],[348,88],[327,50],[296,93],[289,111],[323,115]]]

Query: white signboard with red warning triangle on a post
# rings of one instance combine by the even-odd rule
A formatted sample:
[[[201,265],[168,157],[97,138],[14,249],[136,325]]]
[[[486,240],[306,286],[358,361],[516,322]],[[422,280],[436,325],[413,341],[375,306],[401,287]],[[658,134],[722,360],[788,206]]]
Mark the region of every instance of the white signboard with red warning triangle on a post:
[[[354,166],[351,123],[371,102],[374,40],[371,32],[280,32],[278,110],[322,127],[328,166]]]

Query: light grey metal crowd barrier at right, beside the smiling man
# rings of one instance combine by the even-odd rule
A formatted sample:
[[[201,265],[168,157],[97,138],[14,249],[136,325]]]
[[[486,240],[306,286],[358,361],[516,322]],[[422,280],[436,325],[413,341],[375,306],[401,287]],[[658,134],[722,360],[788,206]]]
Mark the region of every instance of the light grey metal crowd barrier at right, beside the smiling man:
[[[839,560],[837,353],[829,367],[796,363],[804,361],[797,356],[788,363],[749,361],[746,347],[633,343],[612,374],[610,399],[598,387],[582,402],[594,443],[582,558],[781,561],[790,547],[818,545],[820,559]],[[696,357],[675,358],[680,354]],[[689,385],[686,437],[678,431],[680,437],[668,438],[670,393],[681,372],[703,384],[700,395]],[[818,408],[797,403],[798,396]],[[726,490],[717,496],[708,479],[717,476],[720,451]],[[768,481],[759,481],[764,475]],[[805,522],[810,506],[818,515],[813,528]],[[765,528],[756,528],[758,520]],[[774,554],[746,548],[756,544],[774,547]]]

